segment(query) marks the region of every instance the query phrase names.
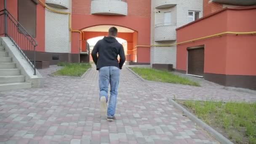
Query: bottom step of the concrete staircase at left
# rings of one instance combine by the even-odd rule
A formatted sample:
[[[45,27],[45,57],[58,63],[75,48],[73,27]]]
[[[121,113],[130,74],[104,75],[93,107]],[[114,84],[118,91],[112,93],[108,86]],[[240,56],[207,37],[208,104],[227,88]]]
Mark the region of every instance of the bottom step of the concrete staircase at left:
[[[5,83],[0,84],[0,91],[18,90],[23,88],[31,88],[31,83]]]

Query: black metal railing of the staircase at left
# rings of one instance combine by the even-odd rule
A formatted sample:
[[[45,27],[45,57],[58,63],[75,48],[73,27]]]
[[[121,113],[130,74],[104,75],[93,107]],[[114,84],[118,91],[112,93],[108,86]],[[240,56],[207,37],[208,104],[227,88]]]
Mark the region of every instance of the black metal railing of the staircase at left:
[[[21,52],[21,54],[24,56],[24,58],[27,60],[27,62],[30,64],[30,66],[34,70],[34,75],[36,75],[36,46],[37,41],[27,32],[27,30],[17,21],[11,13],[7,9],[0,11],[0,16],[4,16],[4,19],[0,19],[0,24],[3,26],[4,35],[6,37],[9,37],[10,40],[14,43],[16,48]],[[3,23],[3,24],[2,24]],[[2,28],[0,28],[0,31]],[[2,32],[0,32],[2,34]],[[27,57],[25,54],[26,51],[32,51],[33,52],[33,59],[32,61]],[[32,63],[33,62],[33,63]]]

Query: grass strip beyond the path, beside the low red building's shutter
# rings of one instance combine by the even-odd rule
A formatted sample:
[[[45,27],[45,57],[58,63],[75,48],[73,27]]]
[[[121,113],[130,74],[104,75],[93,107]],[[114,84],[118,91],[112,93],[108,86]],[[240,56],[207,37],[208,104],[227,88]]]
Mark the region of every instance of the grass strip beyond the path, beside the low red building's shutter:
[[[174,75],[171,72],[167,71],[160,71],[151,68],[131,68],[134,72],[140,75],[145,80],[157,81],[157,82],[164,82],[164,83],[176,83],[182,85],[194,85],[200,86],[199,83],[193,82],[188,78],[180,77],[178,75]]]

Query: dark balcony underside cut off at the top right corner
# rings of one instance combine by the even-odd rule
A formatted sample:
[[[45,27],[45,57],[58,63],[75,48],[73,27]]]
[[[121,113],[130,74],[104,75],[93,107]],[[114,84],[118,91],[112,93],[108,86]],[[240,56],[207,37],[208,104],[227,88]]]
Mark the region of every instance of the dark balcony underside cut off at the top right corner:
[[[255,0],[212,0],[212,2],[223,3],[227,5],[240,5],[240,6],[256,5]]]

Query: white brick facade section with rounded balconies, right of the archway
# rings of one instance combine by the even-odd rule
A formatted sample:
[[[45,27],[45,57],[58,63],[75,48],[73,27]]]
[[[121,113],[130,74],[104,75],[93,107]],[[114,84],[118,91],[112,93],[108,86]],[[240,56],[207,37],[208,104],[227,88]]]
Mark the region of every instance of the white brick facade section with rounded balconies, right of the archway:
[[[151,64],[172,64],[175,69],[176,28],[202,16],[202,0],[152,0]]]

